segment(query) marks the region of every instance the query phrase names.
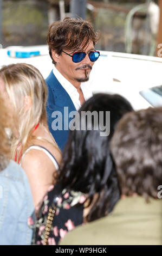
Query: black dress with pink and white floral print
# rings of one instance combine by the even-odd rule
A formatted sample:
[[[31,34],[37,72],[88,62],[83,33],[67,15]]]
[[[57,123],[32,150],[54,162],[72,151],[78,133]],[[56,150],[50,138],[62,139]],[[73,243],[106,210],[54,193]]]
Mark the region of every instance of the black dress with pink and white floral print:
[[[46,224],[50,206],[56,211],[48,236],[48,245],[58,245],[68,231],[83,224],[83,203],[85,194],[76,191],[63,190],[58,194],[58,185],[50,186],[44,197],[43,204],[36,221],[32,216],[28,220],[30,228],[34,229],[33,245],[43,245]],[[58,194],[58,196],[56,196]]]

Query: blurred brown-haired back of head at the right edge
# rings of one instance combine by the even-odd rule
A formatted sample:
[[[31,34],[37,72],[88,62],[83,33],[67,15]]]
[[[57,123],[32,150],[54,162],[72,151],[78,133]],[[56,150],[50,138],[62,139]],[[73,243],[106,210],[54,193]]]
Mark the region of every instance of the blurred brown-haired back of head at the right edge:
[[[121,193],[157,198],[162,184],[162,108],[128,113],[111,142]]]

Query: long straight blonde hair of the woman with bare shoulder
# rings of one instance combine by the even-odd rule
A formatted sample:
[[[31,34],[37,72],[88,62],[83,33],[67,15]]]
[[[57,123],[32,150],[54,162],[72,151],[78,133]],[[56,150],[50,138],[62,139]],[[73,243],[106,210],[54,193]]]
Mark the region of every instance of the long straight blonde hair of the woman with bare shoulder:
[[[18,63],[3,66],[0,77],[5,83],[5,90],[11,102],[14,125],[18,130],[18,137],[13,135],[11,144],[11,158],[22,145],[22,153],[29,147],[34,138],[32,135],[34,127],[47,123],[46,101],[47,87],[40,71],[33,65]],[[31,107],[24,108],[24,97],[30,96]]]

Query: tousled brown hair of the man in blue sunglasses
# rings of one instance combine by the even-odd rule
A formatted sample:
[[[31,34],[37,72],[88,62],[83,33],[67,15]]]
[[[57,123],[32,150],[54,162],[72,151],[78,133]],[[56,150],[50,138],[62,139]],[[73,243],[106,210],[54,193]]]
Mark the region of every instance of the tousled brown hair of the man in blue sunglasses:
[[[88,46],[89,41],[93,41],[93,44],[100,39],[100,33],[95,32],[92,25],[81,18],[72,19],[65,18],[63,21],[53,22],[47,35],[47,43],[49,47],[49,54],[53,60],[53,64],[56,64],[52,57],[51,50],[56,51],[57,54],[61,54],[62,50],[75,51]],[[81,49],[80,49],[81,50]]]

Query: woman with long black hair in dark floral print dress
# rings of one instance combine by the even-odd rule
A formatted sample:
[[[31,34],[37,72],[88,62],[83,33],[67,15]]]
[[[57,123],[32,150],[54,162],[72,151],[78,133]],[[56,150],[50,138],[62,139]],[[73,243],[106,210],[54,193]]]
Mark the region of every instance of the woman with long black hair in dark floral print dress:
[[[103,123],[100,118],[98,124],[95,117],[91,121],[84,118],[82,113],[87,111],[95,112],[98,117],[102,112]],[[80,127],[70,132],[57,183],[49,189],[35,222],[34,244],[56,245],[77,225],[94,221],[113,210],[120,191],[109,143],[116,123],[130,111],[132,107],[127,100],[108,94],[96,94],[80,108]],[[83,125],[86,129],[81,129]],[[89,125],[92,130],[88,130]],[[101,136],[101,126],[108,125],[109,136]]]

